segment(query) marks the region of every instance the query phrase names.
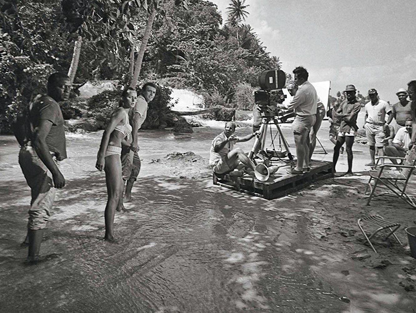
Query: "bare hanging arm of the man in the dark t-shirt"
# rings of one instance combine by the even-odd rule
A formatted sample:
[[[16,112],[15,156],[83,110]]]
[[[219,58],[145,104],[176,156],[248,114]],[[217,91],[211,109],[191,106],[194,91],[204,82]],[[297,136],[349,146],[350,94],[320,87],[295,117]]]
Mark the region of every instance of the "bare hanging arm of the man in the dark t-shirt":
[[[46,137],[49,134],[51,127],[52,122],[50,120],[41,119],[39,126],[35,129],[32,145],[35,148],[38,157],[52,173],[54,187],[62,188],[65,186],[65,178],[59,171],[55,161],[52,159],[48,145],[46,144]]]

